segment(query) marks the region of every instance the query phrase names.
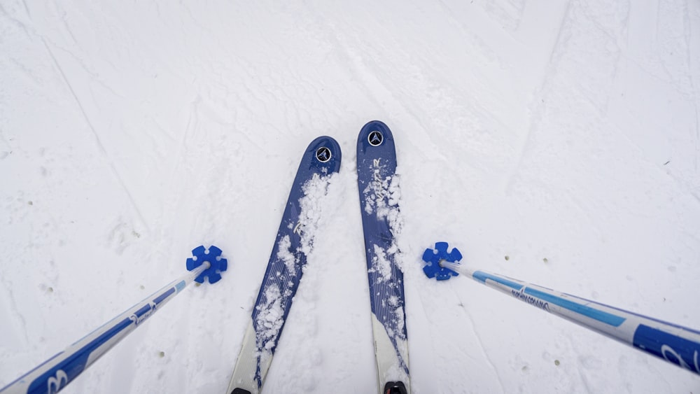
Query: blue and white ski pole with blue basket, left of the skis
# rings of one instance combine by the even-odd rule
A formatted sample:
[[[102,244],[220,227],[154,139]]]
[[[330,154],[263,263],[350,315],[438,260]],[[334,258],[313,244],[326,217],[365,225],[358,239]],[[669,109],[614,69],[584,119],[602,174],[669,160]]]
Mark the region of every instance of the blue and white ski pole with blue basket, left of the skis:
[[[203,283],[207,277],[209,283],[216,283],[221,279],[220,273],[227,268],[221,249],[211,246],[207,250],[198,246],[192,253],[194,257],[187,259],[190,272],[0,389],[0,394],[57,393],[192,281]]]

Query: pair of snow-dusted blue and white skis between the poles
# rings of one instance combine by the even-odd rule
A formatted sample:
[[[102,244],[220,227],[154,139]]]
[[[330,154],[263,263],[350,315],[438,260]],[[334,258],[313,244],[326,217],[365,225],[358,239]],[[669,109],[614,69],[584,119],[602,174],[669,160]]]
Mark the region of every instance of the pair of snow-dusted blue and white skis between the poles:
[[[340,146],[328,136],[314,139],[304,152],[227,394],[260,393],[313,246],[318,218],[305,208],[325,195],[340,159]],[[368,122],[358,136],[357,175],[377,383],[383,394],[410,393],[403,273],[393,237],[400,228],[395,169],[391,130],[377,120]]]

